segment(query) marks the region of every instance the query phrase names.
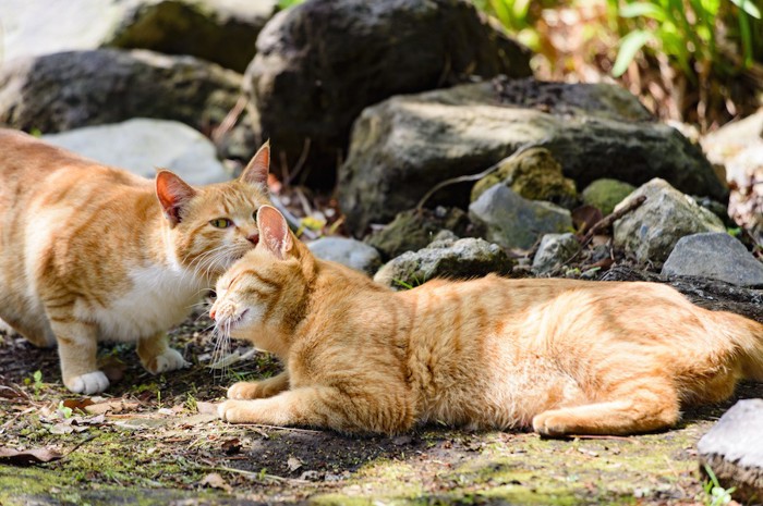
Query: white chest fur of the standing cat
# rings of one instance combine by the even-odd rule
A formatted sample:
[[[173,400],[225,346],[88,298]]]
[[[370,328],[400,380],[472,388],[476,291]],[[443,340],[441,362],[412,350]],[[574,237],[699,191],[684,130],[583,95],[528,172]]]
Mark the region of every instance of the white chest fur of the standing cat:
[[[208,286],[190,273],[158,266],[130,271],[132,287],[90,314],[105,340],[136,341],[165,332],[192,311]]]

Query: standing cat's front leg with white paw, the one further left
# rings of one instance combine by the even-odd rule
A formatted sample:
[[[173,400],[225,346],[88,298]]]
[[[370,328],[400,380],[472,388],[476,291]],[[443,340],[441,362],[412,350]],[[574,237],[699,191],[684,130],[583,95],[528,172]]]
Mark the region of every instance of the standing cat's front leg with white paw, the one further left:
[[[58,342],[63,384],[75,394],[97,394],[109,386],[109,380],[98,370],[98,329],[73,318],[51,319]]]

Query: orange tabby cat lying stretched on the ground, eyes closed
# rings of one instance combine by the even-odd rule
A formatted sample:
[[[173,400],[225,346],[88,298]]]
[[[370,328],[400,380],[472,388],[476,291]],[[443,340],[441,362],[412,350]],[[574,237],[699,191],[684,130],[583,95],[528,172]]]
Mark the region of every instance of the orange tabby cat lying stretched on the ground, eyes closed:
[[[669,286],[488,275],[396,293],[315,259],[274,208],[257,223],[263,239],[220,277],[210,314],[286,371],[231,386],[231,422],[628,434],[763,380],[763,324]]]

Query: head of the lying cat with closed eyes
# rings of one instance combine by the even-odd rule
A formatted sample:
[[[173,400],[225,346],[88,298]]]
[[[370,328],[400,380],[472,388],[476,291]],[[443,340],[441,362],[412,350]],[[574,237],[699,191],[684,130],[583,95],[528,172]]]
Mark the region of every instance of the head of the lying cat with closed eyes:
[[[217,281],[209,314],[221,333],[279,354],[286,343],[274,340],[288,338],[304,318],[316,261],[276,208],[259,208],[257,225],[259,244]]]

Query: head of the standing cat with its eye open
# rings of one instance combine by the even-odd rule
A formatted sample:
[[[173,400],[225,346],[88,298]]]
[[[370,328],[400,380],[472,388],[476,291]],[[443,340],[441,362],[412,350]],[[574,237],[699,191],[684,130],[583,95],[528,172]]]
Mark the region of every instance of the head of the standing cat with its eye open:
[[[269,202],[267,176],[270,147],[266,143],[239,178],[193,187],[170,171],[156,175],[169,236],[170,258],[198,277],[215,279],[259,240],[255,221]]]

